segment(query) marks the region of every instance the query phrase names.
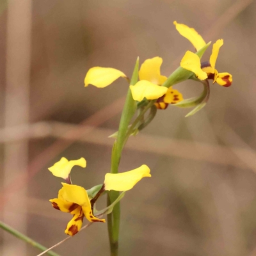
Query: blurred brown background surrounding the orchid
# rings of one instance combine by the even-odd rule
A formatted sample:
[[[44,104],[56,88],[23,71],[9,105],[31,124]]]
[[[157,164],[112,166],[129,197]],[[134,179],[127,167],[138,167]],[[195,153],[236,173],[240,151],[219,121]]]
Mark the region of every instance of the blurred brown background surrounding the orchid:
[[[120,255],[256,255],[256,3],[252,0],[13,0],[0,2],[1,220],[47,247],[66,237],[70,214],[56,211],[62,156],[85,157],[74,184],[91,188],[109,172],[108,138],[118,129],[127,83],[84,88],[90,67],[131,77],[137,56],[163,58],[169,76],[192,45],[173,20],[215,42],[216,68],[233,84],[211,85],[205,108],[157,111],[131,138],[120,172],[150,166],[122,200]],[[211,47],[204,56],[207,60]],[[175,88],[185,98],[200,84]],[[100,200],[100,207],[105,198]],[[100,208],[98,207],[98,208]],[[86,223],[86,221],[84,221]],[[0,230],[0,255],[40,253]],[[95,223],[56,248],[60,255],[108,255],[107,225]]]

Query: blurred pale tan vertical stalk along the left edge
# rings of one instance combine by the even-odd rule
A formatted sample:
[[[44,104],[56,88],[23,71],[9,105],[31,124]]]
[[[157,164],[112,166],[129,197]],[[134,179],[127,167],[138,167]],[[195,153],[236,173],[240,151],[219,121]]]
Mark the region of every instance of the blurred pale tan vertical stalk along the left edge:
[[[6,93],[4,102],[4,127],[8,129],[14,125],[26,125],[29,122],[29,82],[31,70],[31,26],[32,26],[32,0],[13,0],[8,3],[6,21]],[[27,175],[28,140],[15,141],[4,144],[4,186],[8,186],[13,177]],[[27,187],[10,201],[4,204],[3,220],[26,233],[26,214],[19,214],[13,220],[8,214],[11,204],[26,208],[22,198],[26,196]],[[13,234],[13,233],[12,233]],[[21,236],[21,234],[20,234]],[[11,236],[4,233],[3,252],[8,256],[14,252],[26,255],[26,244],[21,241],[12,243]],[[12,243],[12,246],[10,246]]]

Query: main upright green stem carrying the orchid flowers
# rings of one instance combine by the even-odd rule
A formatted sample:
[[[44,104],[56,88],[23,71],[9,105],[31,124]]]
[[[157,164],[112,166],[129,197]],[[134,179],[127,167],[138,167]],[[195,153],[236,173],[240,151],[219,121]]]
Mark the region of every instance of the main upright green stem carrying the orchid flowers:
[[[134,71],[132,74],[131,85],[138,81],[139,58],[136,61]],[[120,119],[118,135],[113,145],[111,157],[111,173],[118,173],[118,166],[121,159],[122,150],[124,148],[125,136],[127,134],[128,125],[131,122],[132,116],[136,112],[136,101],[132,98],[131,90],[129,88],[125,99],[124,109]],[[108,193],[108,206],[115,202],[118,198],[118,191],[109,191]],[[115,205],[111,214],[108,214],[108,234],[111,256],[118,255],[118,237],[120,225],[120,203]]]

